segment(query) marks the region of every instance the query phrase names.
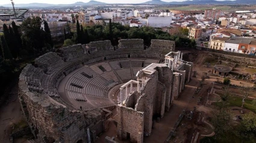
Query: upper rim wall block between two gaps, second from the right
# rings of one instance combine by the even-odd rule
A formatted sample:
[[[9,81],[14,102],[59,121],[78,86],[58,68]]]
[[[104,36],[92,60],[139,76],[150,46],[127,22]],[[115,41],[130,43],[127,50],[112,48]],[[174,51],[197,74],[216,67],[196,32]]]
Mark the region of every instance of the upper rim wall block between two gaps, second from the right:
[[[118,44],[119,49],[129,48],[136,50],[143,50],[144,44],[143,39],[121,39]]]

